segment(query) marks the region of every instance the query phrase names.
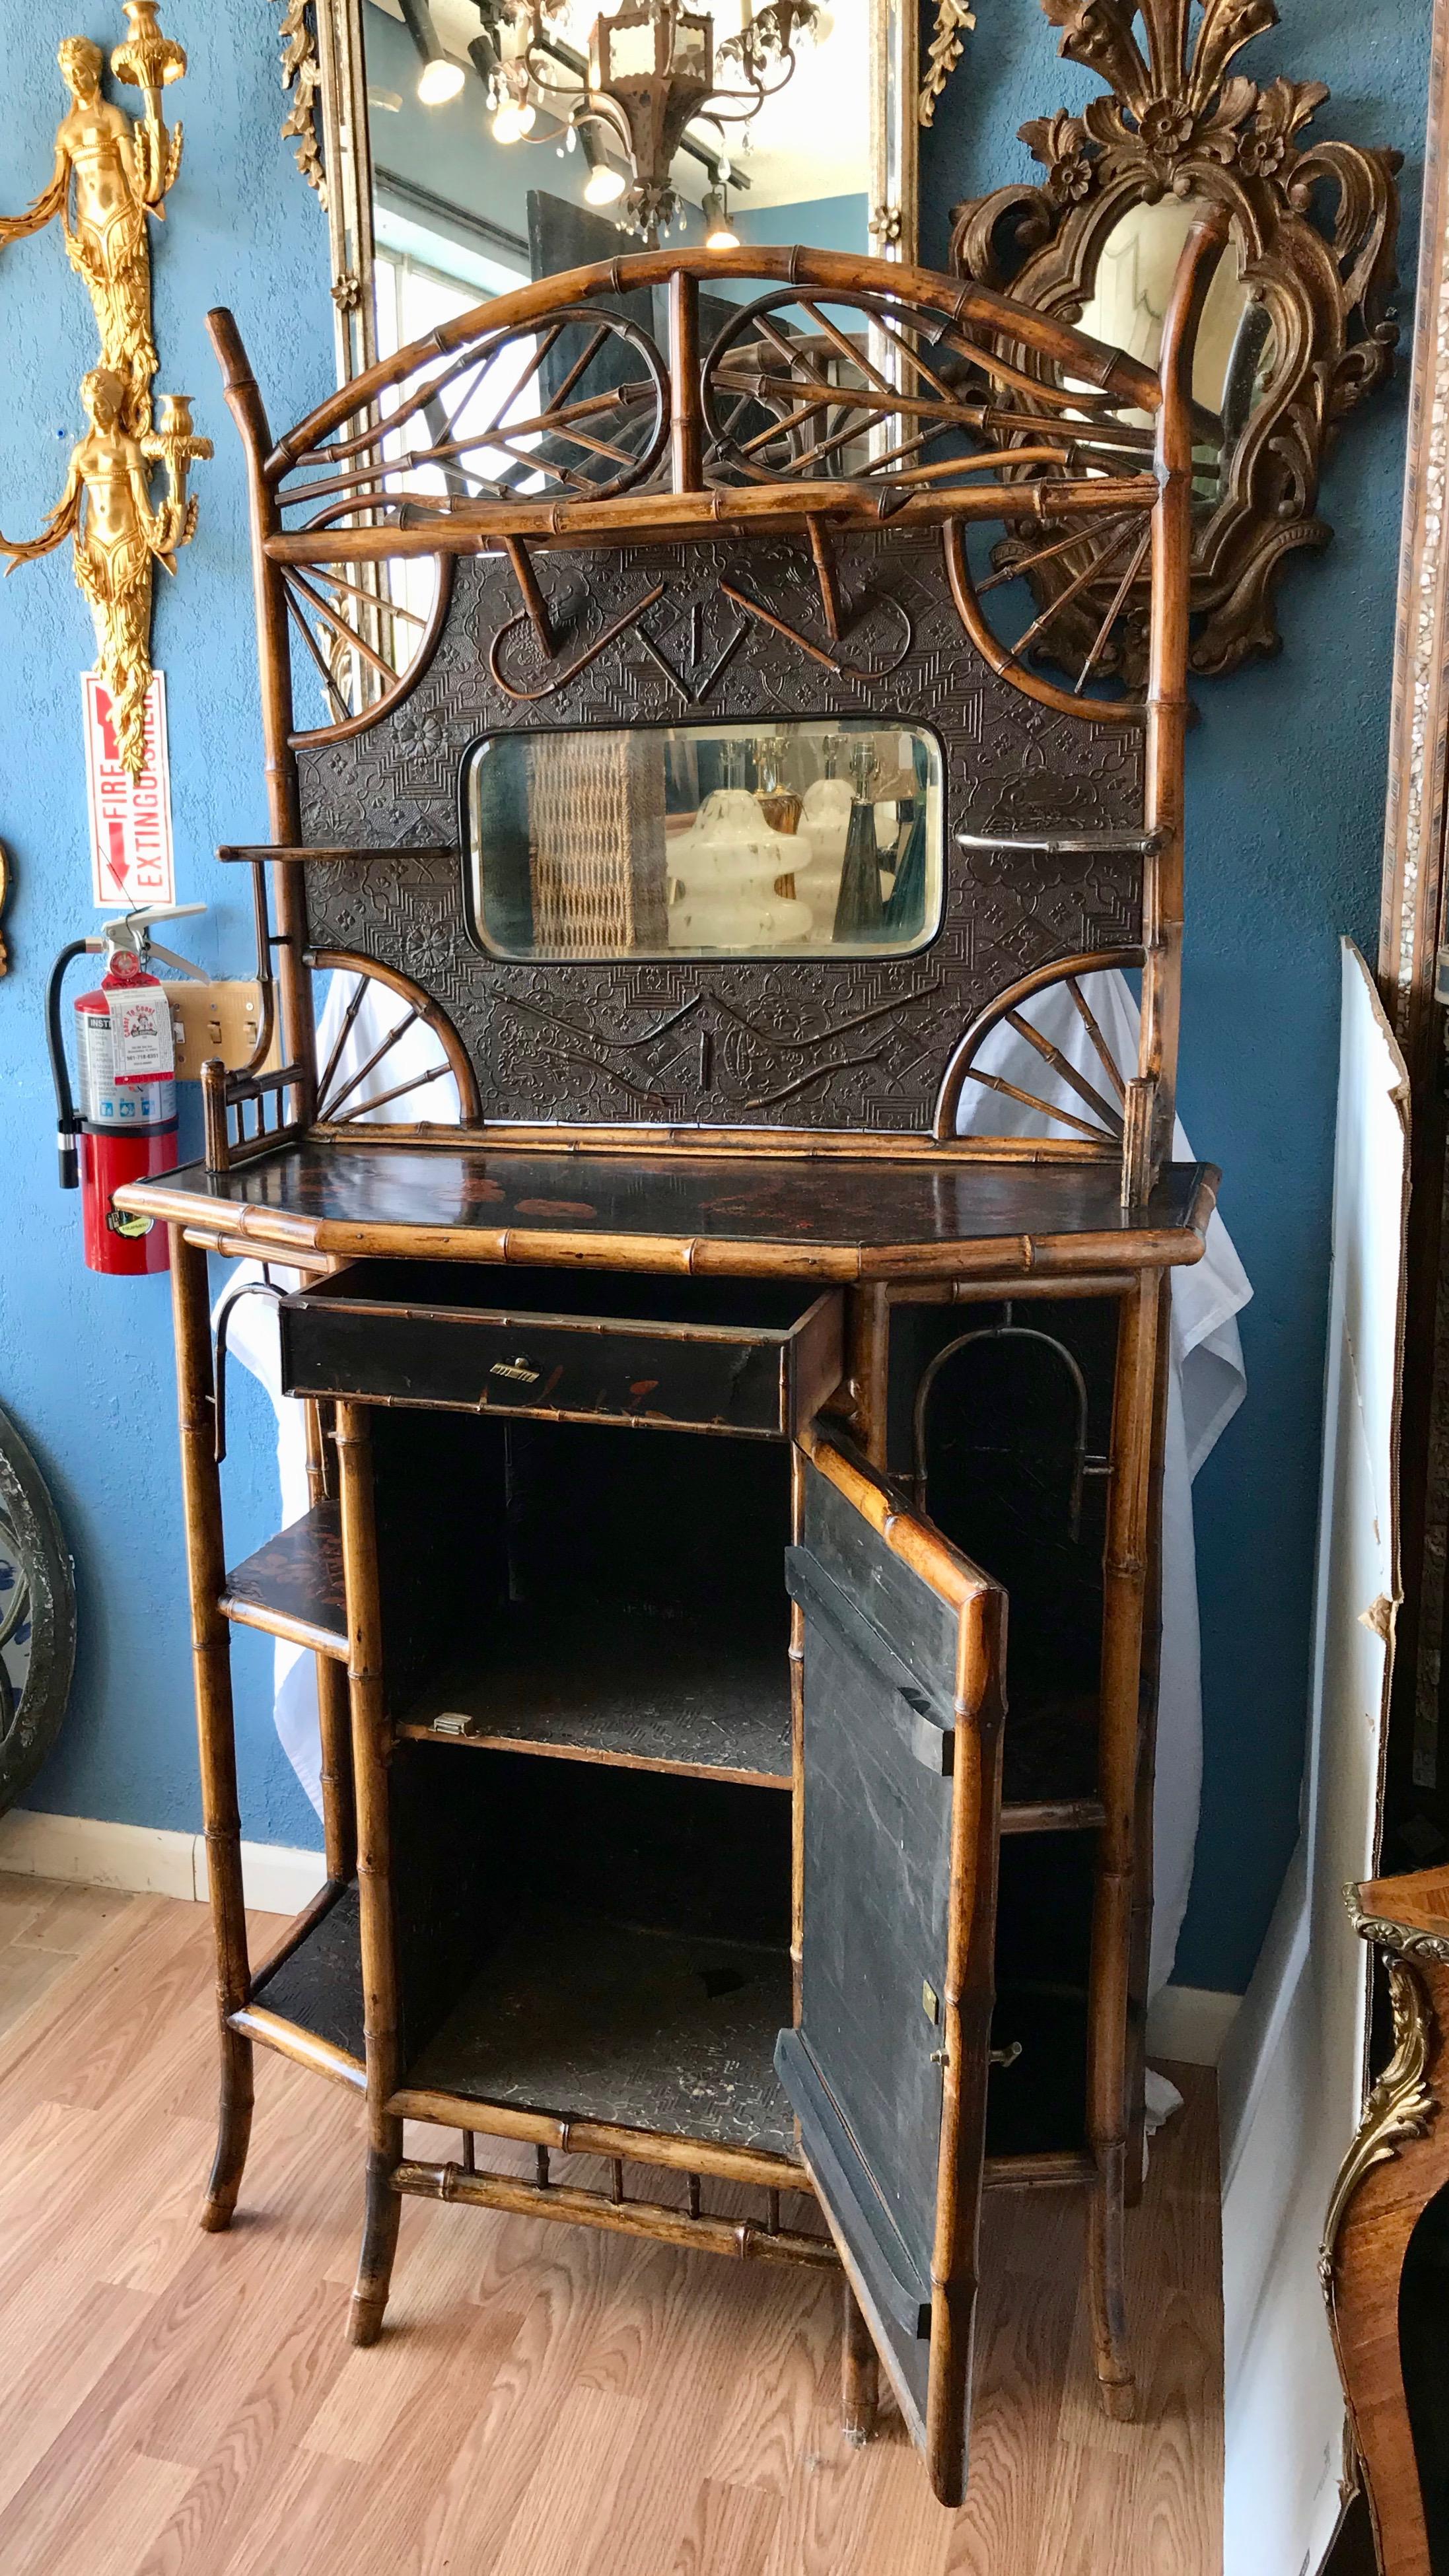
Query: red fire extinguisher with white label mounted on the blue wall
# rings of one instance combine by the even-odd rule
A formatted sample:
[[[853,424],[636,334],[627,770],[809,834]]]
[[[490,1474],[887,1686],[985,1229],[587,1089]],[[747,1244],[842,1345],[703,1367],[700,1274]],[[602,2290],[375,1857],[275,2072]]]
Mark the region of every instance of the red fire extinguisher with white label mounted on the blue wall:
[[[175,1170],[175,1046],[165,984],[150,974],[152,922],[175,922],[206,904],[150,904],[103,922],[101,938],[70,940],[52,966],[46,1036],[54,1077],[62,1190],[80,1188],[88,1270],[139,1278],[168,1267],[165,1226],[124,1216],[113,1193],[126,1180]],[[70,1090],[62,1036],[62,981],[72,958],[106,953],[95,992],[75,1002],[80,1110]],[[170,961],[170,951],[157,945]],[[175,961],[180,963],[180,961]],[[80,1139],[80,1151],[77,1151]]]

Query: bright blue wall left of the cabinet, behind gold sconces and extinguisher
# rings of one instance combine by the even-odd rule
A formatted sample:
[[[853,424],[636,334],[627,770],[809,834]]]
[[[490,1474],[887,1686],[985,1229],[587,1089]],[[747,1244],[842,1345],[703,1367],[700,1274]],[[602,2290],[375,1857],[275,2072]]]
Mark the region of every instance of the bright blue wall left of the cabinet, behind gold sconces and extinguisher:
[[[266,801],[242,464],[204,332],[206,307],[232,304],[278,422],[327,392],[333,366],[325,219],[291,167],[291,147],[278,142],[286,103],[273,18],[258,0],[168,0],[162,18],[186,44],[191,72],[168,93],[186,124],[186,160],[168,222],[152,234],[157,381],[196,397],[217,461],[196,469],[201,531],[178,580],[157,577],[155,657],[170,693],[178,899],[211,904],[178,945],[227,974],[250,971],[250,896],[214,853],[222,840],[266,837]],[[0,13],[5,214],[49,180],[52,134],[67,106],[54,49],[77,31],[116,44],[121,8],[28,0]],[[34,536],[83,428],[75,386],[95,366],[90,299],[57,227],[0,255],[0,526]],[[193,1829],[201,1811],[168,1280],[93,1278],[80,1262],[80,1200],[54,1185],[44,976],[54,951],[101,917],[90,904],[80,755],[77,672],[90,659],[70,546],[21,567],[0,587],[0,837],[18,878],[3,925],[13,966],[0,981],[0,1401],[52,1479],[80,1595],[75,1698],[28,1803]],[[85,966],[75,966],[70,989],[83,987]],[[242,1373],[237,1396],[227,1497],[229,1538],[242,1553],[276,1520],[276,1479],[268,1414]],[[271,1734],[268,1667],[268,1646],[248,1638],[248,1832],[312,1842],[312,1808]]]

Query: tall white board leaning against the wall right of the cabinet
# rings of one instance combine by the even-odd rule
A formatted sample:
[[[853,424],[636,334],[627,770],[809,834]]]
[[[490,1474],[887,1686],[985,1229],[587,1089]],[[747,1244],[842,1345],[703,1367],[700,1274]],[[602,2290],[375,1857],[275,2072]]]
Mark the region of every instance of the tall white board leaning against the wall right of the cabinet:
[[[1364,2102],[1397,1574],[1408,1074],[1343,940],[1333,1275],[1302,1832],[1220,2066],[1225,2576],[1315,2576],[1343,2478],[1318,2246]]]

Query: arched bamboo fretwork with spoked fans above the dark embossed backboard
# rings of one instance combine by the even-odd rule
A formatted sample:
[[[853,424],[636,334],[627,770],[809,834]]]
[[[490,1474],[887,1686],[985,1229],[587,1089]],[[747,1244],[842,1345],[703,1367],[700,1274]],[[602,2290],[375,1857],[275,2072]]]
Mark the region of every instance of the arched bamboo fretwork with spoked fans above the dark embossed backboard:
[[[879,520],[938,502],[957,608],[990,667],[1047,703],[1080,708],[1091,688],[1106,721],[1137,714],[1140,701],[1111,680],[1116,626],[1152,544],[1152,430],[1132,397],[1029,376],[998,353],[987,325],[835,286],[784,286],[743,304],[688,363],[696,386],[670,386],[670,363],[639,322],[580,304],[531,327],[469,332],[387,386],[366,420],[299,453],[284,440],[268,479],[304,562],[284,562],[281,580],[327,719],[294,742],[374,724],[428,667],[454,562],[428,551],[433,526],[477,520],[480,541],[513,564],[523,618],[549,659],[557,639],[529,544],[500,526],[498,505],[518,505],[539,533],[549,505],[629,495],[645,528],[647,497],[678,489],[670,410],[678,428],[681,410],[694,417],[694,394],[696,489],[776,487],[784,497],[797,484],[804,500],[810,487],[802,515],[833,644],[851,608],[833,572],[828,495],[841,489],[851,523],[864,492]],[[1011,489],[1011,526],[1034,531],[1011,569],[985,577],[985,528],[967,544],[951,515],[951,495],[982,484]],[[397,531],[397,554],[361,562],[364,531],[379,528]],[[335,562],[325,559],[330,531],[358,538],[338,544]],[[1031,618],[1026,577],[1039,567],[1052,567],[1055,595]],[[1034,665],[1062,659],[1055,629],[1080,621],[1083,598],[1104,605],[1065,690]]]

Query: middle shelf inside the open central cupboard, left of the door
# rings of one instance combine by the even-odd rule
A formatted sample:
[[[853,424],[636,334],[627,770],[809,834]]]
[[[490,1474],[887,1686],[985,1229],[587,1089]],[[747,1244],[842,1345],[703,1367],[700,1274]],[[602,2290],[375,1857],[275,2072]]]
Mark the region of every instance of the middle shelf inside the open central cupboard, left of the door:
[[[789,1662],[727,1623],[498,1610],[400,1728],[423,1741],[789,1788]]]

